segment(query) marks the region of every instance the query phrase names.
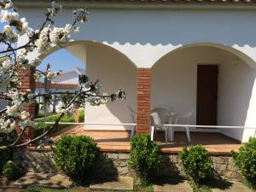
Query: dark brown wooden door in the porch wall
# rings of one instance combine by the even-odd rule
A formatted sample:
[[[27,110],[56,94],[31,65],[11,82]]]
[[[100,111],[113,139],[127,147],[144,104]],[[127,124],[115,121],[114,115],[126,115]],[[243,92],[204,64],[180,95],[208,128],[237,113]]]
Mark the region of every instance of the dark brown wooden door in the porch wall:
[[[218,66],[197,66],[196,124],[217,125]]]

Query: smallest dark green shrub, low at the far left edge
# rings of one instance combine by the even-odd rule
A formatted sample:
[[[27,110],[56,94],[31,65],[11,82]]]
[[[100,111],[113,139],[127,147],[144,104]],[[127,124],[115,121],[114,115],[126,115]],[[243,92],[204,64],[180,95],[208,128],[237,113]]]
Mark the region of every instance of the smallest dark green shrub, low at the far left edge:
[[[21,175],[20,169],[18,166],[15,166],[14,162],[9,160],[4,166],[3,166],[3,176],[7,177],[9,181],[13,181],[17,178],[19,178]]]

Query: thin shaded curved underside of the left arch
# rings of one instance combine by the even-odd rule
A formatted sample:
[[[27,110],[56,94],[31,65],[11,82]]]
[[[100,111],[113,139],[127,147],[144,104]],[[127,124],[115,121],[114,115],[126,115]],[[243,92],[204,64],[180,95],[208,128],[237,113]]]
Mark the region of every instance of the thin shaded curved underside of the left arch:
[[[131,59],[125,55],[124,53],[120,52],[118,49],[115,49],[107,44],[102,44],[102,43],[99,43],[99,42],[96,42],[96,41],[90,41],[90,40],[78,40],[78,41],[71,41],[67,44],[67,46],[64,48],[64,49],[68,49],[69,47],[72,47],[72,46],[76,46],[76,45],[84,45],[86,47],[87,44],[96,44],[96,45],[100,45],[100,46],[103,46],[105,48],[108,48],[108,49],[112,49],[113,51],[115,51],[116,53],[122,55],[125,57],[125,59],[127,61],[130,61],[131,64],[137,68],[137,65],[131,61]],[[48,55],[54,53],[55,51],[61,49],[59,46],[54,46],[52,47],[51,49],[49,49],[49,51],[46,53],[46,54],[42,54],[42,55],[39,55],[38,57],[41,59],[41,60],[44,60],[45,57],[47,57]]]

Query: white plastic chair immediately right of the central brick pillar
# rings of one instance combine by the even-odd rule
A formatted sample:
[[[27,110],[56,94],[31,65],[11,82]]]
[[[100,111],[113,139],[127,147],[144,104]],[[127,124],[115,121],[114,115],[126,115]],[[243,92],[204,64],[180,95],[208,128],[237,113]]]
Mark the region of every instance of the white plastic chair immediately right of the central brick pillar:
[[[153,108],[150,111],[151,119],[151,141],[154,140],[154,131],[164,130],[166,143],[168,142],[168,128],[165,124],[172,124],[171,111],[168,108]]]

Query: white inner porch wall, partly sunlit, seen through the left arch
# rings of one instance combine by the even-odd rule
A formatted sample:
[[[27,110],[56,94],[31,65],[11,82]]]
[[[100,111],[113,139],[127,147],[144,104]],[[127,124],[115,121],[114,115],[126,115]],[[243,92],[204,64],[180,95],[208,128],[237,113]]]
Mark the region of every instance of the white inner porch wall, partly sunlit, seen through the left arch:
[[[127,96],[122,102],[109,102],[102,106],[85,106],[84,123],[124,124],[136,122],[137,67],[122,53],[112,47],[92,41],[74,41],[67,51],[86,65],[90,81],[100,80],[102,93],[123,89]],[[57,48],[51,49],[53,53]],[[40,55],[44,59],[46,55]],[[84,125],[86,129],[130,129],[119,125]]]

